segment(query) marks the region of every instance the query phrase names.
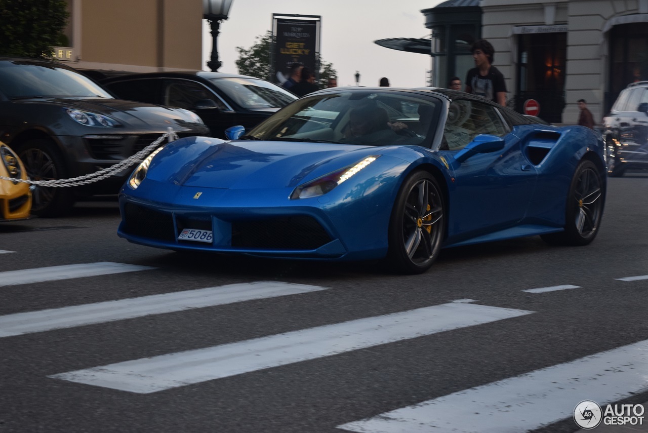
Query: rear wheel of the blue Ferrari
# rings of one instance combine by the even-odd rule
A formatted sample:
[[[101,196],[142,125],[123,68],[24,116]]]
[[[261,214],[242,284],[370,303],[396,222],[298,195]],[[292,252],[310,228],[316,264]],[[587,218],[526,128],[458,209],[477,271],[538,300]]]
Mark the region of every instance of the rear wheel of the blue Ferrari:
[[[605,182],[596,165],[584,159],[573,174],[566,202],[564,231],[542,235],[542,239],[548,244],[589,244],[599,232],[604,204]]]

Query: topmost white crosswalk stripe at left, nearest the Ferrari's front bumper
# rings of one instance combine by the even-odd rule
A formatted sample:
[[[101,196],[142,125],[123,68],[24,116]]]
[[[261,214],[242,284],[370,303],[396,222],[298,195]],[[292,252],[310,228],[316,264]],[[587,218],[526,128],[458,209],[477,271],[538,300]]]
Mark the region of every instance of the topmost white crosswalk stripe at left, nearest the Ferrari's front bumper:
[[[0,287],[18,284],[43,283],[44,281],[56,281],[59,279],[121,274],[122,272],[134,272],[148,269],[156,268],[151,266],[138,266],[135,264],[97,262],[48,266],[46,268],[21,269],[0,272]]]

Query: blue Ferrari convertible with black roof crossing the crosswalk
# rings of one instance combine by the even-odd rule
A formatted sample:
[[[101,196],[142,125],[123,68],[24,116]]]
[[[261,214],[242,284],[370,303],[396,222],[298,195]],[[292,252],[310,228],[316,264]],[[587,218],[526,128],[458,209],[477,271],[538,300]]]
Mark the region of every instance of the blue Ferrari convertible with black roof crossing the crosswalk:
[[[122,187],[119,236],[170,250],[386,259],[540,235],[585,245],[603,215],[603,143],[448,89],[331,88],[229,141],[158,148]]]

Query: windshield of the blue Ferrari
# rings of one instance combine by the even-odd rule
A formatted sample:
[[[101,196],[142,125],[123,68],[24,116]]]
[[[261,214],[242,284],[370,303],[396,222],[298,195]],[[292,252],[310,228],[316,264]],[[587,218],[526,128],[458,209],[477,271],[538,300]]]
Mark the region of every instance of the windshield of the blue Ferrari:
[[[245,138],[430,147],[441,106],[416,93],[340,89],[293,102]]]

